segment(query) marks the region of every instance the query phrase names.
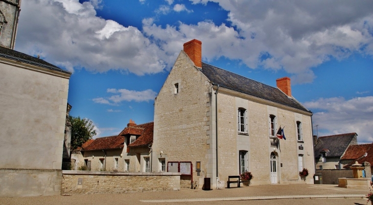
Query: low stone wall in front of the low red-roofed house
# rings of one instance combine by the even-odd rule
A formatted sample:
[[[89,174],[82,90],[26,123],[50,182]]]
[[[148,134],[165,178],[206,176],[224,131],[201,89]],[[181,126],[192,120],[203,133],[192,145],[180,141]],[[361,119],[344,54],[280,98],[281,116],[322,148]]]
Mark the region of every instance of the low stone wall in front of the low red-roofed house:
[[[179,173],[62,171],[61,195],[170,190],[180,190]]]

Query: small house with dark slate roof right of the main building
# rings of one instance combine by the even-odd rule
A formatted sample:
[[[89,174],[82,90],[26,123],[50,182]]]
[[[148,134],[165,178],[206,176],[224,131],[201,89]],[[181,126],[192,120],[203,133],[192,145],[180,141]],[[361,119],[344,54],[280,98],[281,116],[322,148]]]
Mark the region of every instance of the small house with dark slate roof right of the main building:
[[[357,136],[355,132],[320,136],[315,146],[316,169],[342,169],[341,157],[349,146],[357,145]]]

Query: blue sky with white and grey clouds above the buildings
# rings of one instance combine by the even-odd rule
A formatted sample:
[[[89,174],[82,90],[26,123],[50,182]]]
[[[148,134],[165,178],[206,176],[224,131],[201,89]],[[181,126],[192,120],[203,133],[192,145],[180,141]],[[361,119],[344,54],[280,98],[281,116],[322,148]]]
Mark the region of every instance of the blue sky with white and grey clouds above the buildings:
[[[42,8],[42,9],[41,9]],[[276,86],[313,111],[319,136],[373,142],[372,1],[28,0],[15,50],[73,72],[72,116],[99,136],[153,121],[154,98],[182,44],[202,60]],[[314,129],[316,134],[316,129]]]

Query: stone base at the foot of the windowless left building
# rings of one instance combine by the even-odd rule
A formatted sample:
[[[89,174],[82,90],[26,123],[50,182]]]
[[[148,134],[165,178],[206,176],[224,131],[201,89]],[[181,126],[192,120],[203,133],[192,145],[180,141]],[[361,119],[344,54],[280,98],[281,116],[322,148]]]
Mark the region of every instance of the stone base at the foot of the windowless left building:
[[[0,197],[61,194],[61,170],[0,169]]]

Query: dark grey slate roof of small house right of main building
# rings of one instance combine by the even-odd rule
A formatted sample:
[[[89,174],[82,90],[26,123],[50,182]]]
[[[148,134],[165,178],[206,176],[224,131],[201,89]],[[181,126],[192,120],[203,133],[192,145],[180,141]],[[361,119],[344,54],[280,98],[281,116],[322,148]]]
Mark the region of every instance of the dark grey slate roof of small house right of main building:
[[[320,157],[320,152],[328,149],[330,152],[326,157],[340,157],[353,140],[355,132],[346,134],[336,134],[330,136],[320,136],[315,146],[315,158]]]

